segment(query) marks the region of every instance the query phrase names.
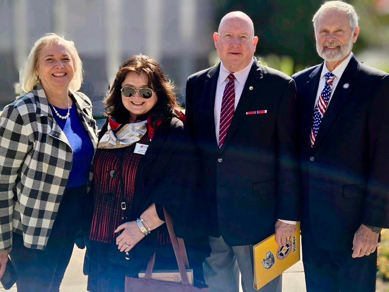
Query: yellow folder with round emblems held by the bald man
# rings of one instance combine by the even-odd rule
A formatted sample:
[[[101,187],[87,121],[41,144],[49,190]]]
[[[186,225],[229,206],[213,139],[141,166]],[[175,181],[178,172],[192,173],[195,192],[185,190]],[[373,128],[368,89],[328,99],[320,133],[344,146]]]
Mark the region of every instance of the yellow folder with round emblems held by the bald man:
[[[253,252],[254,289],[259,290],[300,260],[300,222],[285,246],[279,247],[273,234],[254,245]]]

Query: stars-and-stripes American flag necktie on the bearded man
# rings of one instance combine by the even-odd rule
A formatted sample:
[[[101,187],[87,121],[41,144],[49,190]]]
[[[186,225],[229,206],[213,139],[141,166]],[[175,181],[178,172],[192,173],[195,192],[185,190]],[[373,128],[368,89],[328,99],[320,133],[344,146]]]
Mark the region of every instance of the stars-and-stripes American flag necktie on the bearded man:
[[[324,74],[325,76],[325,85],[324,89],[321,91],[318,103],[315,106],[313,117],[312,117],[312,128],[311,128],[311,139],[310,144],[311,147],[314,146],[316,141],[316,135],[318,134],[318,130],[321,124],[321,120],[327,110],[328,103],[330,102],[331,96],[331,88],[334,82],[334,78],[336,77],[334,73],[327,72]]]

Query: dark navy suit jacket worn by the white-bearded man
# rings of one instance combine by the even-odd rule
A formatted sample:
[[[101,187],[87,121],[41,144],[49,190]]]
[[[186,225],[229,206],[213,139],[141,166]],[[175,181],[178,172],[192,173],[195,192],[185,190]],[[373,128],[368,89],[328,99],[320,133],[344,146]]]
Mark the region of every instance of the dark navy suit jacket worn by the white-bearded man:
[[[320,248],[351,249],[361,223],[389,227],[389,75],[353,56],[311,148],[323,64],[296,73],[303,218]]]

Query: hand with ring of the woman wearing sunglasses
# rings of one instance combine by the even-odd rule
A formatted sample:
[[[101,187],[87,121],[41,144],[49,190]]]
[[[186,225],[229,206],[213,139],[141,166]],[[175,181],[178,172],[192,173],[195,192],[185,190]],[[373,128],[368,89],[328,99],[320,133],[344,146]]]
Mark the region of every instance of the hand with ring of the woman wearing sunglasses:
[[[123,230],[122,234],[116,237],[116,244],[121,252],[129,252],[144,237],[136,221],[125,222],[119,225],[115,233],[121,230]]]

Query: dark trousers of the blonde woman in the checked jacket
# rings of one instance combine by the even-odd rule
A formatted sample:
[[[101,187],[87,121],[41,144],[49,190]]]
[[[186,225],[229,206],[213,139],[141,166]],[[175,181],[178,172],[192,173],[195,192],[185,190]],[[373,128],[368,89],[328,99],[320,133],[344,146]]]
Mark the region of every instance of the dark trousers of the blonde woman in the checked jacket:
[[[85,187],[66,189],[44,250],[26,248],[14,233],[10,258],[18,273],[18,292],[58,292],[82,226]]]

